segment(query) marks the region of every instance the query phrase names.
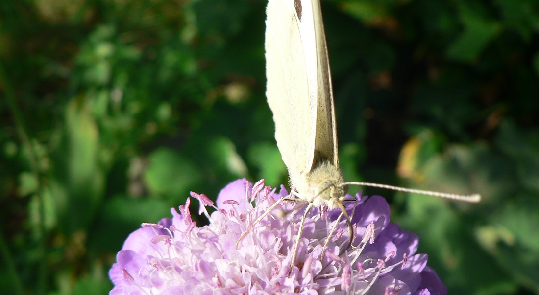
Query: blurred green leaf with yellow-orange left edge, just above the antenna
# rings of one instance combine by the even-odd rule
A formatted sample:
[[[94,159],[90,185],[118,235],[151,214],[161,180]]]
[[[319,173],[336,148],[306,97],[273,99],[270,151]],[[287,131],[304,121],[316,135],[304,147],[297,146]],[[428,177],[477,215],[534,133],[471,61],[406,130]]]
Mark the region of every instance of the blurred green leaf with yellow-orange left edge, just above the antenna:
[[[514,162],[492,152],[483,144],[449,145],[443,153],[436,136],[422,135],[401,152],[399,174],[424,189],[482,195],[482,202],[496,203],[517,189]],[[410,147],[413,147],[411,149]],[[415,152],[414,152],[415,150]],[[424,157],[426,156],[426,157]],[[460,203],[465,207],[465,204]]]

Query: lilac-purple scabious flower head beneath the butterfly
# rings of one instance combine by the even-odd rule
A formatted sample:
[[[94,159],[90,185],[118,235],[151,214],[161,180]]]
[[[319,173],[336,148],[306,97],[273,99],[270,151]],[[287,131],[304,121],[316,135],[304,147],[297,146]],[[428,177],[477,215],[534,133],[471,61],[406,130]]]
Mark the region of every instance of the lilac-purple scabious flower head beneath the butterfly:
[[[292,253],[305,203],[282,201],[260,222],[267,208],[288,193],[274,192],[263,181],[240,179],[219,193],[217,206],[204,194],[191,193],[208,226],[197,227],[190,199],[172,208],[172,219],[144,223],[127,238],[109,271],[110,294],[445,294],[446,288],[416,254],[418,237],[389,223],[381,196],[357,194],[352,217],[353,247],[344,220],[323,244],[340,211],[308,213],[298,256]],[[351,199],[351,196],[348,196]],[[254,205],[254,207],[253,207]],[[217,210],[211,215],[208,207]],[[354,202],[347,205],[349,214]],[[236,243],[240,235],[247,234]]]

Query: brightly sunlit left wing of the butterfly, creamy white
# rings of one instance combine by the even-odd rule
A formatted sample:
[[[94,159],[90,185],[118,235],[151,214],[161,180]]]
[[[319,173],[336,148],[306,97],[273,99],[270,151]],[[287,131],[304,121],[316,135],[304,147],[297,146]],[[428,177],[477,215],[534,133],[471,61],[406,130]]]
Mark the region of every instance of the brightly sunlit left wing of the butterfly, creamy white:
[[[266,97],[275,121],[275,139],[288,173],[312,166],[314,143],[305,53],[293,0],[270,0],[266,20]],[[310,162],[310,166],[307,164]]]

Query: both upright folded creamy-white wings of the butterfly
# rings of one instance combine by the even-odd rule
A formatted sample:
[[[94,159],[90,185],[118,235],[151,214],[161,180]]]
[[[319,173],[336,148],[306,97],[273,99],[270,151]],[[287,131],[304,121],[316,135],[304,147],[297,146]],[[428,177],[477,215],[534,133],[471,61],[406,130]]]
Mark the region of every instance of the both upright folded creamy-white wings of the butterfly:
[[[320,159],[338,167],[327,46],[317,0],[269,0],[266,75],[275,139],[293,185]]]

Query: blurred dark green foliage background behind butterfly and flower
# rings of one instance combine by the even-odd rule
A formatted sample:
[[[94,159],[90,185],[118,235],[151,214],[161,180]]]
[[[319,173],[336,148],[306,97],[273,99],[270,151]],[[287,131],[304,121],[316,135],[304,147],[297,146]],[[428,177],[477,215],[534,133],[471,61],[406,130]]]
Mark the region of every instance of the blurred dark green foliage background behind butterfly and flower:
[[[129,233],[190,191],[286,184],[265,6],[0,3],[2,293],[107,293]],[[539,294],[539,2],[322,11],[345,179],[480,193],[471,205],[363,190],[420,236],[449,294]]]

